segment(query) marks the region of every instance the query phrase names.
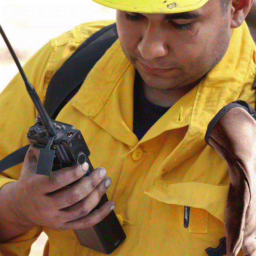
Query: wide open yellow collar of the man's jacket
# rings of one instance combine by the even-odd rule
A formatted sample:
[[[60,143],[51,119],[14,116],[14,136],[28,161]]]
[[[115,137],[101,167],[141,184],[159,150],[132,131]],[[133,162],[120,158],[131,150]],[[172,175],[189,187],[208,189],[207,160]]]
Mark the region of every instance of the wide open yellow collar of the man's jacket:
[[[195,138],[196,134],[203,137],[202,133],[213,116],[238,98],[250,68],[254,65],[255,69],[255,63],[252,64],[255,46],[252,40],[248,42],[249,33],[246,24],[234,29],[220,63],[178,100],[140,142],[186,125],[189,125],[190,138]],[[132,132],[134,74],[134,66],[124,56],[117,40],[89,72],[71,102],[85,116],[131,148],[138,143]]]

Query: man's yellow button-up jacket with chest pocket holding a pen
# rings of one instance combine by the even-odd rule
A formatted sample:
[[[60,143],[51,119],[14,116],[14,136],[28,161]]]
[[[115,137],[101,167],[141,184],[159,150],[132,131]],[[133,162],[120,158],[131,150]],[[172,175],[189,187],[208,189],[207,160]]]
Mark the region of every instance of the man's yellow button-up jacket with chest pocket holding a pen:
[[[77,26],[52,39],[25,65],[42,101],[54,72],[90,34],[111,22]],[[92,165],[104,166],[112,179],[107,195],[116,202],[114,211],[127,236],[112,255],[207,256],[205,249],[217,247],[225,236],[229,180],[226,162],[206,145],[204,135],[210,120],[229,102],[241,99],[254,107],[256,47],[246,24],[235,29],[221,62],[140,141],[132,132],[134,73],[117,40],[56,119],[81,130]],[[18,75],[0,96],[0,156],[28,144],[26,132],[35,115]],[[20,167],[6,170],[0,186],[18,179]],[[188,228],[184,206],[190,206]],[[72,230],[44,227],[0,244],[2,255],[28,255],[42,230],[49,237],[44,255],[102,255],[80,246]]]

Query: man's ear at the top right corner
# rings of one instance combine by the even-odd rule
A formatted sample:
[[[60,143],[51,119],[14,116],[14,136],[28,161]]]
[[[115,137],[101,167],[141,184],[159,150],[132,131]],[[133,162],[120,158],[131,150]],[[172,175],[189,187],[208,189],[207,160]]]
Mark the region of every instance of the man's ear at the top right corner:
[[[253,0],[231,0],[231,28],[238,28],[252,6]]]

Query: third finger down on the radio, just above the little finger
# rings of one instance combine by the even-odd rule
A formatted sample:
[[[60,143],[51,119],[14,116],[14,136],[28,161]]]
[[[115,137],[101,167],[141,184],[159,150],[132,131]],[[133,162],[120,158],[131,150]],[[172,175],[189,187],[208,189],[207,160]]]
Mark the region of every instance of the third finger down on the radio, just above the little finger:
[[[100,182],[100,184],[88,194],[88,196],[82,198],[75,204],[67,208],[63,208],[60,211],[66,214],[66,222],[70,220],[76,220],[89,214],[100,202],[100,199],[110,186],[111,180],[106,177]],[[80,195],[78,196],[80,197]],[[77,199],[77,198],[76,198]],[[99,208],[100,206],[98,206]]]

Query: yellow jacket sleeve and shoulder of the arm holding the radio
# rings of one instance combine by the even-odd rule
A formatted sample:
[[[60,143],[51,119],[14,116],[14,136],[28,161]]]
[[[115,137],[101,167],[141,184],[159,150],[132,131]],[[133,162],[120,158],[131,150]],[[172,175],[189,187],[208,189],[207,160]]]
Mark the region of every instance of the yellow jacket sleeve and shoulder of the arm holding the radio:
[[[24,65],[24,72],[44,104],[48,83],[54,73],[73,54],[78,46],[100,28],[114,20],[87,22],[53,38]],[[28,144],[26,134],[34,124],[36,109],[26,91],[24,82],[17,74],[0,94],[0,159]],[[0,173],[0,188],[18,180],[22,164]],[[27,256],[32,243],[42,228],[32,230],[0,244],[0,255]],[[2,253],[2,254],[1,254]]]

